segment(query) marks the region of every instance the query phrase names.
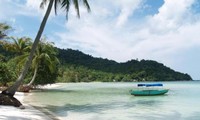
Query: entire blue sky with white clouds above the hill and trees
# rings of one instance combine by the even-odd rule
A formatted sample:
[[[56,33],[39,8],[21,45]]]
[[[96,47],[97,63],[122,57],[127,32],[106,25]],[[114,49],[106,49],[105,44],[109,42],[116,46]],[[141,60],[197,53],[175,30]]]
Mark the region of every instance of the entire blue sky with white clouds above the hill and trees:
[[[11,35],[34,38],[45,9],[41,0],[1,0],[0,22]],[[156,60],[200,80],[199,0],[88,0],[91,13],[52,11],[44,34],[60,48],[118,62]]]

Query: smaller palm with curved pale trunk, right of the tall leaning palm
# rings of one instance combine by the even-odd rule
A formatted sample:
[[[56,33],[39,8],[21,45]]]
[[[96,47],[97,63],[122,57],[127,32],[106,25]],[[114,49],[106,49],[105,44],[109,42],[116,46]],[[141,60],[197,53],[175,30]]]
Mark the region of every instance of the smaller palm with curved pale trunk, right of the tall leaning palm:
[[[34,69],[34,74],[31,81],[27,84],[27,86],[31,86],[33,84],[38,74],[38,70],[40,70],[39,71],[40,79],[42,81],[39,82],[40,84],[52,82],[49,79],[52,79],[51,74],[55,73],[59,64],[59,60],[56,56],[57,55],[56,50],[57,49],[54,48],[53,43],[47,42],[45,38],[43,38],[39,42],[33,57],[32,67],[31,67],[32,69]],[[43,72],[43,74],[41,74],[41,72]],[[54,77],[54,79],[56,78]]]

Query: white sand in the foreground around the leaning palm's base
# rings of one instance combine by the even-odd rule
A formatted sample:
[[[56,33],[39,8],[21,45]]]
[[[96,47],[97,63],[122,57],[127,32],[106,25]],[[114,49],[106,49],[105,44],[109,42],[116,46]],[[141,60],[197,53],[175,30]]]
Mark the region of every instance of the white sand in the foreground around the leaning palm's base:
[[[53,120],[41,111],[23,103],[24,93],[17,92],[14,97],[25,106],[25,109],[0,105],[0,120]]]

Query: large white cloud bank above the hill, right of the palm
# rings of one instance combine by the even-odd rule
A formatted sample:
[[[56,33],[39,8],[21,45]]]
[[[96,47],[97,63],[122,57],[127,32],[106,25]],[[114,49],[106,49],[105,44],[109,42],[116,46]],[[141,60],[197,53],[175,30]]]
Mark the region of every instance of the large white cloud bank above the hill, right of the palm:
[[[190,9],[193,0],[165,0],[157,14],[137,23],[130,16],[142,1],[120,2],[106,2],[110,6],[100,2],[81,20],[69,19],[67,32],[57,34],[61,38],[57,45],[119,62],[153,59],[171,66],[178,62],[179,52],[200,46],[200,22],[194,21],[197,16]]]

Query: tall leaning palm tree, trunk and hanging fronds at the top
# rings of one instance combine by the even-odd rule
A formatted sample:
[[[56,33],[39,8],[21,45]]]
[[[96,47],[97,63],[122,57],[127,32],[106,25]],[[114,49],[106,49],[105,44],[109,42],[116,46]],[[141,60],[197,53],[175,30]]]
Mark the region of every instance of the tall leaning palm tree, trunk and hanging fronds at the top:
[[[15,92],[17,91],[17,89],[19,88],[21,83],[23,82],[24,77],[27,74],[29,67],[31,66],[32,58],[34,56],[36,47],[37,47],[37,45],[40,41],[41,35],[43,33],[43,30],[45,28],[47,19],[49,17],[49,14],[51,12],[53,5],[54,5],[54,9],[55,9],[55,14],[57,13],[58,5],[61,5],[61,7],[65,9],[66,16],[68,16],[70,5],[71,5],[71,3],[73,3],[78,17],[80,17],[79,0],[43,0],[42,3],[41,3],[41,7],[43,7],[47,2],[49,2],[49,4],[48,4],[47,10],[46,10],[46,13],[44,15],[44,18],[43,18],[41,24],[40,24],[39,31],[38,31],[38,33],[35,37],[34,43],[33,43],[32,48],[31,48],[30,55],[29,55],[28,60],[26,61],[25,65],[24,65],[24,69],[22,70],[22,73],[20,74],[20,76],[18,77],[18,79],[16,80],[16,82],[14,84],[11,87],[7,88],[6,90],[2,91],[2,94],[4,94],[4,95],[9,95],[10,97],[13,97]],[[85,5],[85,7],[87,8],[87,10],[90,11],[90,6],[89,6],[87,0],[82,0],[82,2]]]

